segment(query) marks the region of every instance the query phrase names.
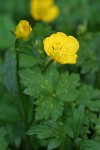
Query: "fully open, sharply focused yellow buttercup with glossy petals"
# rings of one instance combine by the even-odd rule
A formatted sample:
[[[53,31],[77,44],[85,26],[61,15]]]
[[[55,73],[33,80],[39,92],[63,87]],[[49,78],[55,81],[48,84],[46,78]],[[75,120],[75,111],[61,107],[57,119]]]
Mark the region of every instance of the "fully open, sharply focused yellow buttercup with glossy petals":
[[[44,50],[50,59],[61,64],[75,64],[79,42],[73,36],[57,32],[43,41]]]

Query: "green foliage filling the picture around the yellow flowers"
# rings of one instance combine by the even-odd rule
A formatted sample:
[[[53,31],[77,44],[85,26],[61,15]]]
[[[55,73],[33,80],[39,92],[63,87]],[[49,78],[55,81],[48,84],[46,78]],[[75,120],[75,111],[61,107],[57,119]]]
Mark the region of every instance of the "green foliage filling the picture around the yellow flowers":
[[[36,22],[29,3],[0,0],[0,150],[100,150],[100,0],[55,0],[50,24]],[[22,19],[33,31],[19,43],[20,99],[10,31]],[[43,39],[57,31],[79,40],[77,63],[43,71]]]

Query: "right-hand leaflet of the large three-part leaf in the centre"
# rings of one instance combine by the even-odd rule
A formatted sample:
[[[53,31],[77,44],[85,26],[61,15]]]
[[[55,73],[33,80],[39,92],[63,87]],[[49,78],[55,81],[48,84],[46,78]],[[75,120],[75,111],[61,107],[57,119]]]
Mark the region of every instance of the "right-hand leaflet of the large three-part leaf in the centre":
[[[61,74],[57,83],[56,95],[62,101],[74,101],[78,95],[79,75],[68,73]]]

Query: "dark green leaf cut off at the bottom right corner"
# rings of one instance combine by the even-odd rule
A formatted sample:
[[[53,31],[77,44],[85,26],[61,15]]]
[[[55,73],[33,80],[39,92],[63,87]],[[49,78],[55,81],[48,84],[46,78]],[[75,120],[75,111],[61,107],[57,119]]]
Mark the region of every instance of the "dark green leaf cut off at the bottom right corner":
[[[80,150],[100,150],[100,143],[93,140],[82,140],[78,144]]]

